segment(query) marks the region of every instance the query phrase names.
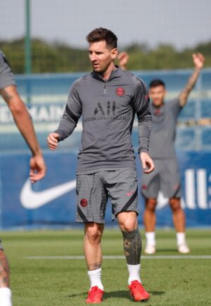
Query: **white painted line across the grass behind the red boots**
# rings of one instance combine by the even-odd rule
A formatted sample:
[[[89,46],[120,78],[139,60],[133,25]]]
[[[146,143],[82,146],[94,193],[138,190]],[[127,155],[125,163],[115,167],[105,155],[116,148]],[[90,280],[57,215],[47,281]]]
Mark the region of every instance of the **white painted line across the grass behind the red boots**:
[[[28,260],[84,260],[84,256],[27,256]],[[105,260],[124,260],[125,257],[121,255],[105,255]],[[151,255],[141,256],[144,260],[181,260],[181,259],[211,259],[211,255]]]

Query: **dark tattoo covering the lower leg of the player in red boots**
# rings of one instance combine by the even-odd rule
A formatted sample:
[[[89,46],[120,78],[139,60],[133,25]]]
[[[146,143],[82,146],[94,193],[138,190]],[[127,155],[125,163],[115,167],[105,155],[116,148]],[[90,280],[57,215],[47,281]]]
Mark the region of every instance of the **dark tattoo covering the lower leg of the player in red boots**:
[[[139,229],[122,231],[122,235],[127,264],[140,264],[142,243]]]

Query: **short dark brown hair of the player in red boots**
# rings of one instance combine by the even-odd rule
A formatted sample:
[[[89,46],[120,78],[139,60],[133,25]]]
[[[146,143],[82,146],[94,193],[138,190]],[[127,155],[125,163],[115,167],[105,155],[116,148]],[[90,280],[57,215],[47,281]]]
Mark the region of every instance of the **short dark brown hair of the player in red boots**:
[[[86,39],[87,42],[89,42],[89,44],[91,42],[101,42],[101,40],[105,40],[107,46],[110,46],[112,48],[117,48],[116,35],[112,31],[104,29],[103,27],[98,27],[97,29],[91,31],[87,35]]]

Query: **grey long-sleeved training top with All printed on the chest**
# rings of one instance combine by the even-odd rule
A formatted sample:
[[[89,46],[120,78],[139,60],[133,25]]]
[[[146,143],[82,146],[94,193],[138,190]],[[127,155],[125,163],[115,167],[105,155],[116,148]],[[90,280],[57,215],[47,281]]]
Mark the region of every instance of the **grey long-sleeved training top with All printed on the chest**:
[[[82,115],[77,174],[136,167],[131,140],[135,113],[139,122],[139,152],[148,151],[151,112],[148,90],[141,79],[117,68],[108,80],[91,72],[72,84],[55,132],[60,135],[59,141],[65,139]]]

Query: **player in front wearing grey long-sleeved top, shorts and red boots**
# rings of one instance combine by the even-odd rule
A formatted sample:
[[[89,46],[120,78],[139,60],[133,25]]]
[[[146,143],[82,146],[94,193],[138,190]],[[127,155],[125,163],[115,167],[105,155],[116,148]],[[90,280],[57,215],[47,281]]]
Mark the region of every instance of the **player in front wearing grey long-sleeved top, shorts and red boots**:
[[[148,300],[139,276],[141,236],[137,224],[137,179],[131,133],[139,120],[139,153],[146,173],[153,171],[148,155],[151,113],[145,84],[114,64],[117,37],[98,28],[87,35],[94,71],[72,85],[63,119],[48,144],[55,150],[82,115],[82,146],[77,166],[77,222],[84,222],[84,255],[91,281],[87,303],[101,302],[101,236],[108,197],[124,239],[129,289],[134,300]],[[148,167],[148,169],[146,168]]]

